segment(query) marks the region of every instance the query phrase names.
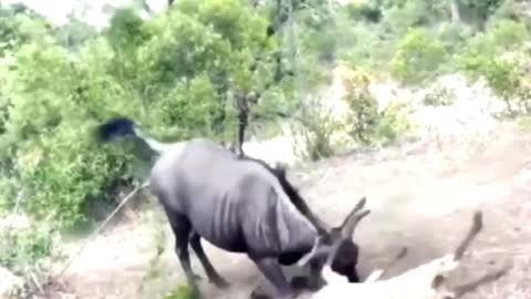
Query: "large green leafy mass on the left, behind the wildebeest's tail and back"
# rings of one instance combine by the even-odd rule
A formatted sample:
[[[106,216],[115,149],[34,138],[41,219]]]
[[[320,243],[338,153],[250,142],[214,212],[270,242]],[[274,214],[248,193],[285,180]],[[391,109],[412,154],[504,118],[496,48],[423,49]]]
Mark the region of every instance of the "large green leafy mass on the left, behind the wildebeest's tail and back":
[[[69,30],[81,24],[43,23],[18,14],[0,23],[15,40],[0,64],[0,173],[9,174],[0,204],[13,206],[23,187],[24,210],[63,228],[138,175],[131,148],[93,138],[102,120],[127,115],[162,140],[232,138],[233,94],[260,91],[274,73],[267,18],[238,0],[179,1],[147,21],[118,10],[103,34],[73,43]]]

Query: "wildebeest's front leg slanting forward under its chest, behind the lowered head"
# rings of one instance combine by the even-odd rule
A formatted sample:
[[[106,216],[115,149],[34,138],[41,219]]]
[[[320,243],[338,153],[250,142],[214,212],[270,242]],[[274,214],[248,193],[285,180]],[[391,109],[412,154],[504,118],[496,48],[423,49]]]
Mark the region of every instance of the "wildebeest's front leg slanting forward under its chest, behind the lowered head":
[[[275,299],[291,299],[295,296],[293,288],[291,287],[288,279],[285,279],[282,268],[274,258],[252,258],[257,265],[258,269],[266,276],[266,278],[274,286],[275,290],[272,295],[267,295],[266,297],[271,297]],[[252,297],[261,298],[262,293],[256,295]]]

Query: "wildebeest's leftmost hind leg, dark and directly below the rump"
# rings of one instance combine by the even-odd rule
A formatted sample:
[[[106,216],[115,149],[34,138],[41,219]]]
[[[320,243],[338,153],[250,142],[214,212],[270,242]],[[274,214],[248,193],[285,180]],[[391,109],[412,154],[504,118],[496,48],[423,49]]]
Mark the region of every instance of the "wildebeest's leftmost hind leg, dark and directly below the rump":
[[[194,298],[200,299],[202,296],[197,287],[196,277],[190,266],[190,255],[188,252],[188,238],[191,233],[190,221],[185,216],[173,212],[167,212],[166,215],[168,216],[169,224],[174,230],[175,252],[179,258],[186,280],[194,292]]]

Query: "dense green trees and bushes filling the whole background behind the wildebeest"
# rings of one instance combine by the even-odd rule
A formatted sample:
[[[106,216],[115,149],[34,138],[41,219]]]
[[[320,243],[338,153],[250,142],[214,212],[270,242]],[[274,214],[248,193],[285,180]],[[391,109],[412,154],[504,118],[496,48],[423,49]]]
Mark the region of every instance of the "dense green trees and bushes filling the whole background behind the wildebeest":
[[[116,10],[103,31],[2,8],[0,215],[17,209],[33,221],[0,238],[0,265],[27,272],[52,252],[58,231],[94,218],[91,207],[115,205],[122,187],[144,177],[135,144],[94,142],[94,125],[110,116],[134,117],[163,140],[230,142],[235,102],[244,97],[254,122],[302,123],[308,156],[320,158],[334,154],[337,126],[358,144],[407,130],[399,107],[378,112],[367,92],[383,74],[420,86],[444,73],[485,78],[509,115],[527,111],[524,1],[293,0],[293,23],[288,2],[179,0],[146,20],[138,6]],[[352,71],[346,123],[301,100],[339,63]]]

